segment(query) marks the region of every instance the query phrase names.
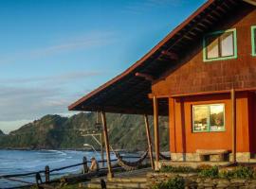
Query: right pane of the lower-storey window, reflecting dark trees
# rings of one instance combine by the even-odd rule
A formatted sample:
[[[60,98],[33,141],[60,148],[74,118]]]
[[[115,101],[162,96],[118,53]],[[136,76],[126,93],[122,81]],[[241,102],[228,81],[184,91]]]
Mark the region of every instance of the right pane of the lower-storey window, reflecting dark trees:
[[[224,105],[210,105],[210,130],[224,129]]]

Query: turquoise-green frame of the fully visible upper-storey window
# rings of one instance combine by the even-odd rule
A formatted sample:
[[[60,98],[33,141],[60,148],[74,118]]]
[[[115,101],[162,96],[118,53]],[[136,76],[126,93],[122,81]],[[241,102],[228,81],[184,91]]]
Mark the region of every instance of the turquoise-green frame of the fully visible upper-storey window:
[[[222,51],[222,45],[224,45],[222,42],[223,36],[228,35],[229,33],[232,34],[232,55],[222,55],[224,52]],[[212,42],[209,42],[213,40]],[[217,57],[215,58],[208,58],[208,47],[211,43],[216,42],[217,44]],[[237,59],[237,34],[236,34],[236,28],[228,29],[228,30],[221,30],[221,31],[214,31],[211,33],[208,33],[203,38],[203,60],[204,61],[214,61],[214,60],[230,60],[230,59]]]

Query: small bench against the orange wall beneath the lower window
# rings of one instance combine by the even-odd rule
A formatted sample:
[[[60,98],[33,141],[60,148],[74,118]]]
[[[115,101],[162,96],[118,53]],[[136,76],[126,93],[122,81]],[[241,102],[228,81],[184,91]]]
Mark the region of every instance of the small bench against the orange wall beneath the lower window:
[[[225,154],[228,154],[229,151],[227,149],[196,149],[196,153],[202,162],[205,162],[210,155],[217,155],[218,159],[216,161],[224,162]]]

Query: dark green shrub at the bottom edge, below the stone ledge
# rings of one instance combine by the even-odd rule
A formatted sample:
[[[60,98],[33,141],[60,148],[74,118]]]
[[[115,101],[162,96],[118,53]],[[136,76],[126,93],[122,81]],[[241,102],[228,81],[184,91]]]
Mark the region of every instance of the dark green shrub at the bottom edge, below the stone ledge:
[[[166,182],[155,184],[152,189],[184,189],[185,180],[182,178],[174,178]]]

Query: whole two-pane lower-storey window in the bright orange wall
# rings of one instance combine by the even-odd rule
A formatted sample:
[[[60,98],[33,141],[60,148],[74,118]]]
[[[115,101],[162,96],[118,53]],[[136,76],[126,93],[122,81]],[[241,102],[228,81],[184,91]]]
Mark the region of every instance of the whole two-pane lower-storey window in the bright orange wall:
[[[194,105],[192,106],[193,132],[225,130],[225,105]]]

